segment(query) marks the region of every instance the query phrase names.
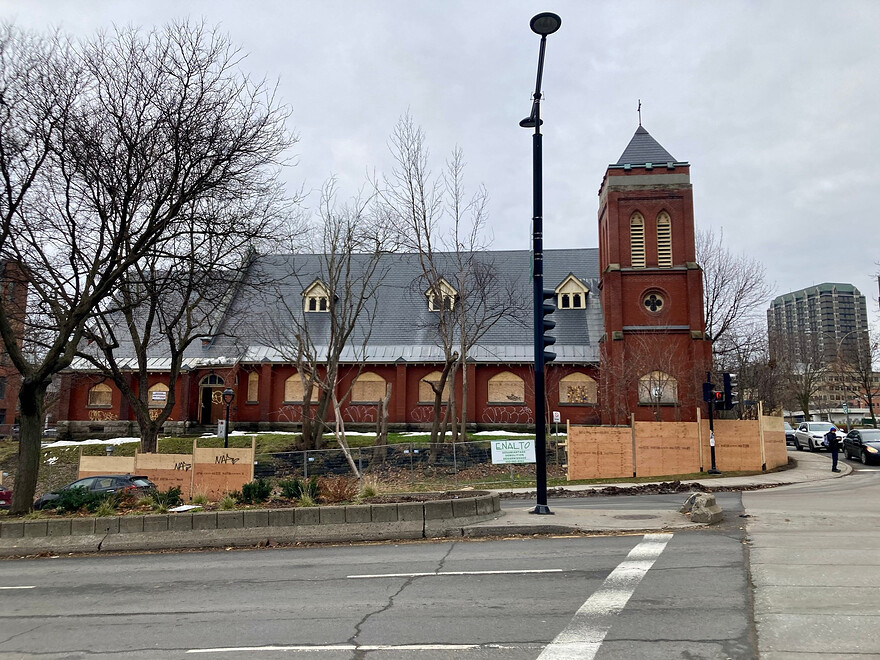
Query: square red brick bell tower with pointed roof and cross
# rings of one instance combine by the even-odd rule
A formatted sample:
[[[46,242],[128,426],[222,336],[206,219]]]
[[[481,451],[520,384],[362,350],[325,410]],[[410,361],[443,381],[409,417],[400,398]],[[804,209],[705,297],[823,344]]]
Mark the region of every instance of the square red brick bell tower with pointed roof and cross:
[[[603,423],[693,421],[711,368],[690,165],[641,124],[599,190]]]

